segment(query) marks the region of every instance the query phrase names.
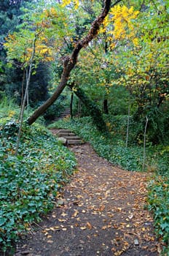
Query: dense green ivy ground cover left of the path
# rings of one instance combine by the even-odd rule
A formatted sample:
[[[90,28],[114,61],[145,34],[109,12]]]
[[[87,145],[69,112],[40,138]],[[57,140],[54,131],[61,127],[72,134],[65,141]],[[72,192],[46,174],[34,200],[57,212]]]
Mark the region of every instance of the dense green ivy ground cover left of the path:
[[[11,246],[29,223],[52,209],[60,187],[68,181],[74,155],[36,124],[23,127],[15,157],[17,122],[1,125],[0,133],[0,244]]]

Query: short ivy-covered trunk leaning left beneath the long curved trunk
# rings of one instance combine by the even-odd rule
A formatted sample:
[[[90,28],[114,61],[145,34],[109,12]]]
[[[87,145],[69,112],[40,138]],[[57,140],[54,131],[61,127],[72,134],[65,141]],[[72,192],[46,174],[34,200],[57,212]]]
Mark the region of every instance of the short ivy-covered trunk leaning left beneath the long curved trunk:
[[[73,86],[69,86],[71,89]],[[74,91],[76,96],[81,100],[81,102],[85,105],[85,108],[87,108],[87,113],[89,113],[90,116],[93,118],[93,122],[96,125],[96,127],[101,132],[106,132],[106,123],[103,120],[103,116],[101,113],[101,110],[98,108],[97,105],[91,100],[87,95],[84,93],[84,91],[76,87],[76,90]]]

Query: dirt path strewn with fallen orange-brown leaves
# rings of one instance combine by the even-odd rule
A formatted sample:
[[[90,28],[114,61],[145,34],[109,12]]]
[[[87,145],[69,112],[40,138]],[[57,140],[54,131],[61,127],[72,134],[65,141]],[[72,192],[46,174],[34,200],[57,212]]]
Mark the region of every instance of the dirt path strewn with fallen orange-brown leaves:
[[[15,256],[159,255],[144,209],[147,175],[114,167],[87,143],[70,149],[79,172]]]

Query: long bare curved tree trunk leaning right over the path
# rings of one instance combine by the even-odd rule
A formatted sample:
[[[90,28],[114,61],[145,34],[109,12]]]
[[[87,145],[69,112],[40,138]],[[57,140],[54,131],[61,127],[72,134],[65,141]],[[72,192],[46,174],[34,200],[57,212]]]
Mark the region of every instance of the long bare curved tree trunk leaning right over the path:
[[[122,0],[117,0],[114,3],[114,5],[119,3],[119,1],[122,1]],[[71,56],[66,56],[63,59],[63,73],[62,73],[60,84],[59,84],[58,88],[56,89],[54,94],[52,94],[52,97],[50,97],[50,99],[47,99],[47,101],[44,102],[44,104],[42,106],[40,106],[37,110],[35,110],[33,115],[28,118],[29,125],[33,124],[34,121],[36,121],[36,119],[39,118],[39,116],[41,116],[42,113],[44,113],[47,110],[47,108],[49,108],[55,102],[56,99],[58,99],[58,97],[61,94],[61,92],[63,91],[63,89],[66,87],[66,83],[70,76],[71,70],[76,65],[79,51],[82,48],[86,47],[89,44],[89,42],[91,42],[96,37],[96,35],[98,34],[98,31],[99,31],[99,28],[100,28],[101,24],[103,23],[104,18],[106,18],[106,15],[108,14],[108,12],[110,10],[110,6],[111,6],[111,0],[105,0],[103,11],[101,12],[101,15],[99,15],[98,18],[96,18],[93,21],[93,24],[92,24],[91,29],[88,32],[87,36],[84,37],[84,39],[79,40],[79,42],[76,43],[76,46],[74,47],[74,50],[72,51]]]

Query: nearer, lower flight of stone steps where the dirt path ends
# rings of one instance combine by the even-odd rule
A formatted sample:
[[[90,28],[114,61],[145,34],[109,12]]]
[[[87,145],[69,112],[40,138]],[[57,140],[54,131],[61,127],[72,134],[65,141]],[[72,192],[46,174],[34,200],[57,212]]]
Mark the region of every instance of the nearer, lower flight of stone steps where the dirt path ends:
[[[58,132],[55,133],[55,135],[58,136],[58,140],[66,146],[79,145],[83,143],[82,139],[71,132],[70,129],[58,129]]]

